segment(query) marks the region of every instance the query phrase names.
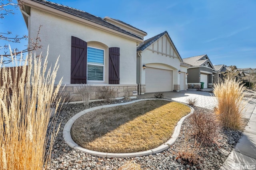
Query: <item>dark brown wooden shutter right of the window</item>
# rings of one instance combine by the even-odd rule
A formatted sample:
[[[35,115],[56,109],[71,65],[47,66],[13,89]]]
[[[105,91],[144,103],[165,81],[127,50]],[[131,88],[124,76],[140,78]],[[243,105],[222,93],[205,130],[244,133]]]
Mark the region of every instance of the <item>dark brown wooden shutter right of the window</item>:
[[[118,47],[109,48],[109,68],[108,68],[108,84],[119,84],[119,62],[120,49]]]

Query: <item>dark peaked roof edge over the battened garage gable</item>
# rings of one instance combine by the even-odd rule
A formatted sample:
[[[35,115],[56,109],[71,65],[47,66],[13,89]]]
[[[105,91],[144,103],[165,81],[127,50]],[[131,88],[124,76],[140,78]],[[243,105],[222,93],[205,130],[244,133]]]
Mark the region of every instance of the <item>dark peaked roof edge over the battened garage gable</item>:
[[[137,47],[137,51],[140,51],[140,50],[143,51],[143,50],[146,49],[148,46],[150,46],[151,44],[153,44],[156,40],[158,40],[160,37],[162,37],[164,34],[166,34],[166,35],[169,37],[169,39],[170,39],[171,42],[172,42],[172,45],[173,45],[174,49],[177,51],[177,53],[178,53],[178,55],[179,55],[179,57],[180,57],[180,53],[179,53],[178,50],[176,49],[176,47],[175,47],[175,45],[174,45],[174,43],[173,43],[173,41],[172,41],[172,39],[171,39],[171,37],[170,37],[170,35],[168,34],[167,31],[164,31],[163,33],[160,33],[160,34],[158,34],[158,35],[156,35],[156,36],[154,36],[154,37],[151,37],[151,38],[145,40],[143,43],[141,43],[141,44],[139,45],[139,47]],[[180,57],[180,59],[182,60],[181,57]]]

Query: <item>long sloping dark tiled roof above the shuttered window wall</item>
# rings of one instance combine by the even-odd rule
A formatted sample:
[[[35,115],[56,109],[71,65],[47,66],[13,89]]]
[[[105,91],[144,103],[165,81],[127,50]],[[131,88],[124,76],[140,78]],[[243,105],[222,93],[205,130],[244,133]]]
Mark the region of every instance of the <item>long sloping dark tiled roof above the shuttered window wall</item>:
[[[54,3],[54,2],[50,2],[50,1],[47,1],[47,0],[31,0],[31,1],[37,2],[37,3],[45,5],[45,6],[48,6],[50,8],[54,8],[54,9],[62,11],[62,12],[66,12],[67,14],[76,16],[78,18],[82,18],[84,20],[92,21],[94,23],[97,23],[99,25],[102,25],[102,26],[114,29],[116,31],[125,33],[127,35],[132,36],[132,37],[136,37],[138,39],[143,39],[143,38],[138,37],[137,35],[135,35],[133,33],[125,31],[124,29],[121,29],[120,27],[117,27],[116,25],[113,25],[111,23],[108,23],[107,21],[104,21],[102,18],[100,18],[98,16],[94,16],[92,14],[89,14],[88,12],[84,12],[82,10],[78,10],[78,9],[75,9],[75,8],[71,8],[71,7],[64,6],[64,5],[61,5],[61,4],[57,4],[57,3]]]

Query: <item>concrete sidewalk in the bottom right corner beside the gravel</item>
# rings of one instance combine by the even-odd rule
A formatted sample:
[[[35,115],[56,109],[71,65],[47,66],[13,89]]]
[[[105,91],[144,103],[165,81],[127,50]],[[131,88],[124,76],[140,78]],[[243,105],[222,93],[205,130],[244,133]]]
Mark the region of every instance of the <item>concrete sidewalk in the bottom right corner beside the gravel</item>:
[[[249,118],[248,125],[243,132],[244,136],[238,141],[236,147],[220,170],[250,170],[256,169],[256,100],[251,99],[245,117]]]

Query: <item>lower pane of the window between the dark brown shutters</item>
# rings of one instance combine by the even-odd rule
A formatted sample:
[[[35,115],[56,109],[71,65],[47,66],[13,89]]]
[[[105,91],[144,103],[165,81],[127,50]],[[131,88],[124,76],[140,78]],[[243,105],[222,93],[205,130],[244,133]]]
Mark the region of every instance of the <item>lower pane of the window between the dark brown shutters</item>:
[[[103,66],[87,65],[87,80],[103,80]]]

